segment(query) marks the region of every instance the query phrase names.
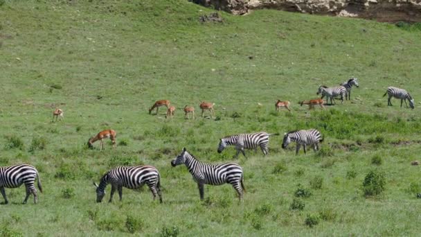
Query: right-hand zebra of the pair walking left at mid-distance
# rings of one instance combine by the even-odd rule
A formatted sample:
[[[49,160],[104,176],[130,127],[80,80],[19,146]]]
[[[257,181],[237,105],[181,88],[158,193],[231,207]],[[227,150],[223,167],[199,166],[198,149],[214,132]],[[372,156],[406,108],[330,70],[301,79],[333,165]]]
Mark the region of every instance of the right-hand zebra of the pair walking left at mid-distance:
[[[323,138],[321,137],[321,133],[315,129],[292,131],[285,133],[282,148],[287,148],[291,141],[297,143],[295,155],[298,155],[298,150],[300,150],[301,145],[303,145],[304,153],[307,152],[305,150],[307,145],[313,145],[314,151],[319,150],[319,142],[322,142]]]

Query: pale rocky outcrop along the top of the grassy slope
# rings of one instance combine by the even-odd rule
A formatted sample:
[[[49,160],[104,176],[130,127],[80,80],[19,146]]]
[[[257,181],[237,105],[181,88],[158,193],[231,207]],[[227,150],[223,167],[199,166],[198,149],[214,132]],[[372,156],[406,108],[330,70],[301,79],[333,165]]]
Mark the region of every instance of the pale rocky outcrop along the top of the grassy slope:
[[[421,0],[191,0],[235,15],[254,9],[278,9],[377,21],[421,21]]]

